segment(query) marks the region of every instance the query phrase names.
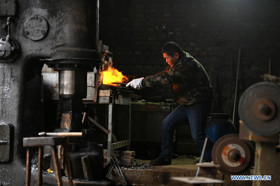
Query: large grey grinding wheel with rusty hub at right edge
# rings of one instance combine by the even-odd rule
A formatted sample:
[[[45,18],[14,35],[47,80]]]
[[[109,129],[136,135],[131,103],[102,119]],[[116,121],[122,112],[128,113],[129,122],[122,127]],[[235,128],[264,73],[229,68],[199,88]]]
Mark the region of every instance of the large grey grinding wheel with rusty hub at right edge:
[[[280,86],[271,82],[256,83],[242,94],[238,113],[251,131],[269,136],[280,132]]]

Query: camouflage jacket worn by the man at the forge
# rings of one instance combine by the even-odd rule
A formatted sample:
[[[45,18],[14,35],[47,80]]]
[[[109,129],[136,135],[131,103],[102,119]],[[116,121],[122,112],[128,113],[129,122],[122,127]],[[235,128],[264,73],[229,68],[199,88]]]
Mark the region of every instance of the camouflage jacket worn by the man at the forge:
[[[141,83],[146,87],[172,84],[177,102],[181,105],[211,102],[213,99],[213,91],[205,69],[187,52],[173,67],[168,66],[162,72],[144,78]]]

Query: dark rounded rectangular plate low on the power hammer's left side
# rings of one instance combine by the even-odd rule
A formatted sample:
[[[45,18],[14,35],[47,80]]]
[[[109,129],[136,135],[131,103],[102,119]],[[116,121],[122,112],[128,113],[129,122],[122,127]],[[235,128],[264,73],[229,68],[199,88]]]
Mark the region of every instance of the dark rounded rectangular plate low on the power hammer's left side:
[[[0,162],[7,162],[11,158],[11,126],[0,123]]]

